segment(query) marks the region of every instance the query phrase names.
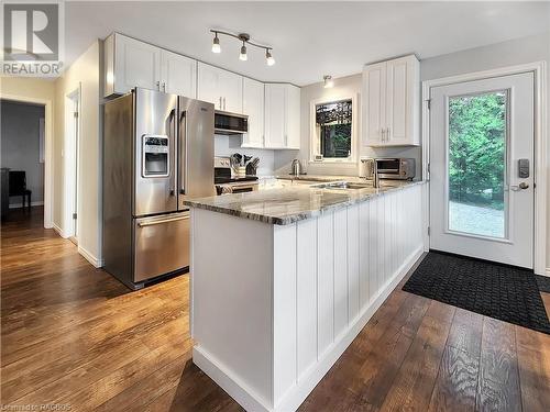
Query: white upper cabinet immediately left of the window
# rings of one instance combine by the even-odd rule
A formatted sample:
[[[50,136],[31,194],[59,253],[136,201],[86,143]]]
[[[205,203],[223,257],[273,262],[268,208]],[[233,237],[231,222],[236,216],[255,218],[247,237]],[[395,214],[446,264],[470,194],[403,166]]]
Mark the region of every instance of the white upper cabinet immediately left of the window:
[[[300,148],[300,89],[265,85],[265,147]]]

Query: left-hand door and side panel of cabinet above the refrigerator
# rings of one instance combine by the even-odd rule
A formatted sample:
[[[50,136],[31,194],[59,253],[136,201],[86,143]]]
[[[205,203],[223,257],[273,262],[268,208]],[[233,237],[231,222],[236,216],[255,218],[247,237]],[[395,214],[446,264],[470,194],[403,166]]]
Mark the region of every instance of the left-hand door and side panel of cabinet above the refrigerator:
[[[125,93],[134,87],[160,89],[161,48],[113,33],[105,43],[105,96]]]

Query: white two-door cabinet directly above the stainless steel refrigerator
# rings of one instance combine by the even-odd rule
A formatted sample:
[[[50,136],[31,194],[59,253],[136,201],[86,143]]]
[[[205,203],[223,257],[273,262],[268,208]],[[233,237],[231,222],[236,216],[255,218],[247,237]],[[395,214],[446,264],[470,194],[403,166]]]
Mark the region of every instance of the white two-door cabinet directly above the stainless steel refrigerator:
[[[113,33],[105,41],[105,96],[134,87],[196,98],[197,62]]]

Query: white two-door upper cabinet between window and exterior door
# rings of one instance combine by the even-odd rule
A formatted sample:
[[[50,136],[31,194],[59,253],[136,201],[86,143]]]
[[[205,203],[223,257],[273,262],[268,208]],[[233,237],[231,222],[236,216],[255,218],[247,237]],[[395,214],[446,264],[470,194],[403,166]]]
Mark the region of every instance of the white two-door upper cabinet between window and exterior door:
[[[420,63],[405,56],[363,69],[363,145],[420,144]]]

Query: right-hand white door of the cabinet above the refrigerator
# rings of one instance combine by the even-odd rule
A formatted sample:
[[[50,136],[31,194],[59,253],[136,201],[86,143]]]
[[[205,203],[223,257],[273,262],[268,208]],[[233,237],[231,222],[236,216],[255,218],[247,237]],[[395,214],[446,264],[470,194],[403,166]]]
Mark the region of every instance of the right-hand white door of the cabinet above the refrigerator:
[[[191,99],[197,97],[197,60],[162,51],[161,78],[161,90]]]

